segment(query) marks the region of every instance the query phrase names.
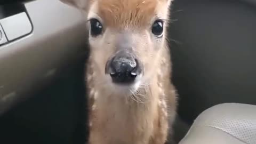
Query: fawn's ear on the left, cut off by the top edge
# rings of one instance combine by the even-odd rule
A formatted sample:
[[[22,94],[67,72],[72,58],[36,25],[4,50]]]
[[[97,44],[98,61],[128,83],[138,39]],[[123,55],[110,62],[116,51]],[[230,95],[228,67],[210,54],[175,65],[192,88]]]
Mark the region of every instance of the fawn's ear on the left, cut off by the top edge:
[[[62,3],[68,4],[70,6],[76,7],[77,9],[86,10],[89,7],[90,0],[60,0]]]

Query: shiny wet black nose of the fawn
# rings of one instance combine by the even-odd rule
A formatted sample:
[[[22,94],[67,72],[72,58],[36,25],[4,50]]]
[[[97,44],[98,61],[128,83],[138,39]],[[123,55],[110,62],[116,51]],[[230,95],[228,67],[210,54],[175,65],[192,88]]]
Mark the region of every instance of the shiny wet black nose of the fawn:
[[[141,73],[139,62],[126,52],[119,52],[106,66],[106,73],[110,74],[114,83],[132,83]]]

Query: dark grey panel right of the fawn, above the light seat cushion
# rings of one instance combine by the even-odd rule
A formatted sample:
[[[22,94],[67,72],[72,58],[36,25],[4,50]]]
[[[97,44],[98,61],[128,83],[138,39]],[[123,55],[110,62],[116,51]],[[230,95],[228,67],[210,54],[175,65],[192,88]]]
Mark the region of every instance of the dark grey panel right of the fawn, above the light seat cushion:
[[[219,103],[256,104],[254,4],[174,1],[169,38],[183,121],[191,124],[203,110]]]

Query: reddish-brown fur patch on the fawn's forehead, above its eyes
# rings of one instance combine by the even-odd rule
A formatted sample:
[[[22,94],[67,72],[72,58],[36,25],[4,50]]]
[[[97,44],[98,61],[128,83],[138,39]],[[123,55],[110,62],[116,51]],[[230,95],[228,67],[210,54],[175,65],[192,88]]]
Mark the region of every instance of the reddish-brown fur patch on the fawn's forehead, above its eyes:
[[[144,3],[143,3],[144,2]],[[155,13],[157,2],[148,1],[99,1],[99,15],[106,25],[113,28],[148,26]],[[109,19],[111,18],[111,19]]]

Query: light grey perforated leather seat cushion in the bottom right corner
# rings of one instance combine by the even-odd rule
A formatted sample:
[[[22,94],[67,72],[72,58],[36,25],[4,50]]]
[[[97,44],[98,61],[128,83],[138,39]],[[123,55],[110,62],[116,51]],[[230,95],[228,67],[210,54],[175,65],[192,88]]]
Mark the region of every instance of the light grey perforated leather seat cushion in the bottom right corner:
[[[256,106],[223,103],[205,110],[180,144],[255,144]]]

